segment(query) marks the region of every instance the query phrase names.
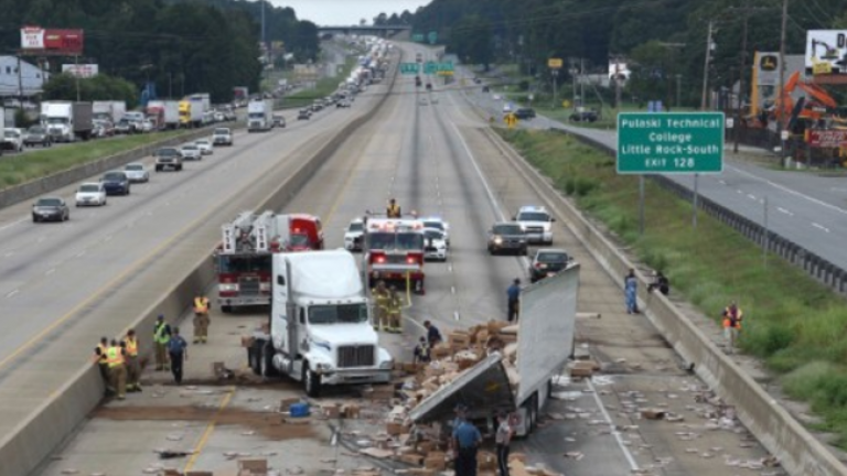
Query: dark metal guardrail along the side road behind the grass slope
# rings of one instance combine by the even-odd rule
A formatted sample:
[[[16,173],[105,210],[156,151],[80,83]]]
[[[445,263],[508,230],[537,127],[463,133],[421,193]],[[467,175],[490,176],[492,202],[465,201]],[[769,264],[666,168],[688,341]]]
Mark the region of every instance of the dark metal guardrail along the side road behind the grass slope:
[[[611,156],[615,156],[615,151],[613,149],[588,137],[561,129],[550,130],[571,136],[588,145],[608,153]],[[690,202],[694,196],[694,193],[690,190],[665,176],[650,175],[650,178],[661,185],[663,188],[673,192],[683,199]],[[699,208],[706,212],[709,216],[740,232],[750,241],[759,245],[760,247],[766,248],[769,252],[772,252],[780,258],[783,258],[791,264],[801,268],[808,275],[822,284],[825,284],[833,291],[847,296],[847,270],[844,268],[832,263],[826,258],[803,248],[802,246],[778,235],[772,230],[765,230],[762,225],[744,218],[741,215],[725,207],[723,205],[706,198],[703,195],[697,197],[697,204]]]

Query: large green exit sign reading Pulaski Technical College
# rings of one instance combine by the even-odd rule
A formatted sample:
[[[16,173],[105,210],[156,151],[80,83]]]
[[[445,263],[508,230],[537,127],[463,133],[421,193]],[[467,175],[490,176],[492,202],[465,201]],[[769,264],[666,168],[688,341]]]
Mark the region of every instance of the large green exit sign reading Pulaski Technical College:
[[[621,112],[618,173],[720,173],[723,112]]]

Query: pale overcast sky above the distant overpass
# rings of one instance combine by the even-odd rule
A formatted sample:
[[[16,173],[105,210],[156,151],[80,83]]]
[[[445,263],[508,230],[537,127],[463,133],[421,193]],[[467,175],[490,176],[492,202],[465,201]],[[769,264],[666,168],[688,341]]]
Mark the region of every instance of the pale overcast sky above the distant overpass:
[[[358,24],[361,19],[368,23],[382,12],[390,15],[404,10],[415,13],[418,7],[430,0],[270,0],[278,7],[291,7],[300,20],[310,20],[318,25]]]

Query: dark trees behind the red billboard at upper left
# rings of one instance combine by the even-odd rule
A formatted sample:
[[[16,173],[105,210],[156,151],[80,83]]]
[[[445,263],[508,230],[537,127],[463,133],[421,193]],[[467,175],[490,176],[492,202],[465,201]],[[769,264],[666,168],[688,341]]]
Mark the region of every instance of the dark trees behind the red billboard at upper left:
[[[281,41],[298,60],[315,58],[317,26],[290,8],[266,2],[266,40]],[[234,86],[257,90],[261,3],[236,0],[0,0],[0,50],[20,47],[20,28],[82,29],[81,63],[138,89],[156,84],[159,97],[210,93],[232,100]],[[32,62],[37,57],[29,58]],[[68,57],[46,57],[57,73]],[[61,78],[57,78],[57,80]],[[60,88],[61,89],[61,88]]]

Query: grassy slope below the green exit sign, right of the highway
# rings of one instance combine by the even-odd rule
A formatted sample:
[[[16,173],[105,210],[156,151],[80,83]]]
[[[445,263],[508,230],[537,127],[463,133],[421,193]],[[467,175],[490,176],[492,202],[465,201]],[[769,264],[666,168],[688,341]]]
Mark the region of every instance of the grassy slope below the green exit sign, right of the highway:
[[[500,133],[716,324],[737,301],[744,311],[742,350],[765,363],[787,396],[810,403],[821,416],[813,429],[847,448],[844,299],[775,256],[765,266],[761,248],[704,213],[694,229],[690,203],[652,181],[640,235],[637,177],[618,175],[611,156],[557,132]]]

